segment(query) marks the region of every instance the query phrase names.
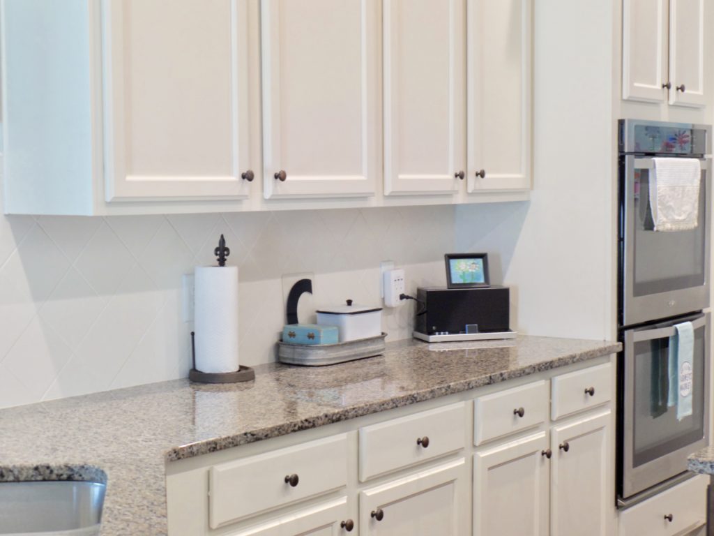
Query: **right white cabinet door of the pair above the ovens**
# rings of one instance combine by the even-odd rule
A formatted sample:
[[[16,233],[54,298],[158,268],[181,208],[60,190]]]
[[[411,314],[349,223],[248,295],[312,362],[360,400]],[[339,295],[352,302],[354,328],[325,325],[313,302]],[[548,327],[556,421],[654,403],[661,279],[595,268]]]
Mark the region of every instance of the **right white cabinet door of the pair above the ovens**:
[[[670,104],[704,106],[705,0],[670,0]]]

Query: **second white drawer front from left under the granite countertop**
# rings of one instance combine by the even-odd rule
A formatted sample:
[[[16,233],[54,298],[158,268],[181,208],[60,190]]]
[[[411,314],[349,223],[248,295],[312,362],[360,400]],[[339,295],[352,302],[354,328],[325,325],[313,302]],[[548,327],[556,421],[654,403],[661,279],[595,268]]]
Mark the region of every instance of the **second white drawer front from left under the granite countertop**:
[[[463,449],[466,445],[463,402],[359,431],[360,480],[408,467]]]

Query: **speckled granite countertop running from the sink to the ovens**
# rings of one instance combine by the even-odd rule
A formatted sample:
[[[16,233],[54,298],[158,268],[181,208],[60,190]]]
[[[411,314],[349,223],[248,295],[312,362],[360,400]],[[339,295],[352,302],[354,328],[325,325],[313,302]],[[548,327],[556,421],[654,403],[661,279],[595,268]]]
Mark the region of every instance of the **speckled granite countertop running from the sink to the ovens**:
[[[266,364],[245,384],[187,379],[0,410],[0,482],[106,480],[102,535],[165,535],[165,464],[618,352],[549,337],[390,343],[329,367]]]

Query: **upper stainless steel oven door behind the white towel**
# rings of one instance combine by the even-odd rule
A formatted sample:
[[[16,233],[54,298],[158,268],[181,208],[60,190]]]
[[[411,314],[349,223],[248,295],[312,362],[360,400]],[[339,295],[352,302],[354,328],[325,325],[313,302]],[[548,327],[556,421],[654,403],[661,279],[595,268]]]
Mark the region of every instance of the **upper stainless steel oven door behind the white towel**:
[[[650,211],[652,159],[627,157],[623,325],[708,307],[709,166],[702,160],[696,229],[655,232]]]

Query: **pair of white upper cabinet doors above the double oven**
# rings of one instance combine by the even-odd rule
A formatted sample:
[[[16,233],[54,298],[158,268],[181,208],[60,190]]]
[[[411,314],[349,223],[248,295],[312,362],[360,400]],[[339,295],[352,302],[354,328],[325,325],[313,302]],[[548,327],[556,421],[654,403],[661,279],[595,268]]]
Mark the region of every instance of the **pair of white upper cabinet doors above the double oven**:
[[[623,1],[623,99],[704,106],[705,0]]]

